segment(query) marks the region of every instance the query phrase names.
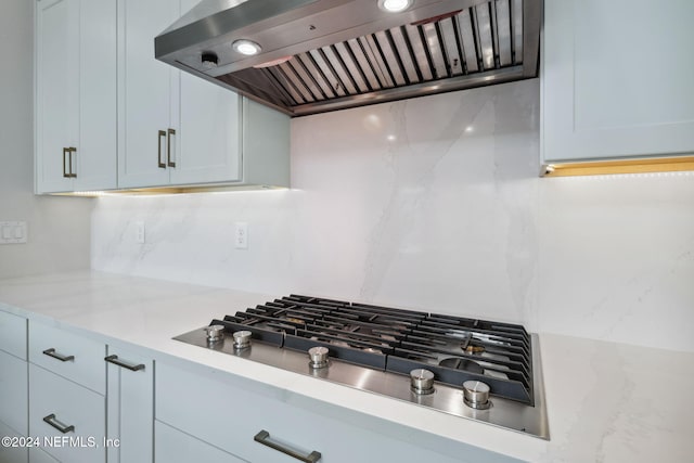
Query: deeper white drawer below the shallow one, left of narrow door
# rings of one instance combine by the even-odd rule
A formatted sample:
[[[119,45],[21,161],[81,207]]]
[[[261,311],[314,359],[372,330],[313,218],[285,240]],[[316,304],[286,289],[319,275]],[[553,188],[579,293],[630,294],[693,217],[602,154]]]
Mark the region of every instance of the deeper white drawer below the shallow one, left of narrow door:
[[[103,360],[102,360],[103,361]],[[54,415],[65,433],[44,421]],[[106,399],[78,384],[29,364],[29,435],[52,438],[42,448],[62,462],[95,463],[106,460]],[[65,440],[62,440],[65,439]]]

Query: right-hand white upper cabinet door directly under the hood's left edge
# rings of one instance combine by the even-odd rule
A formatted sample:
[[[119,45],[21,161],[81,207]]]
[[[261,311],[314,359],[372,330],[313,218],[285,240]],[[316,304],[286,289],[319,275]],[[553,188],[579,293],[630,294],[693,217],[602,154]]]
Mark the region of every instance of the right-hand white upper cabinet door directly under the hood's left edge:
[[[171,183],[241,180],[241,98],[236,93],[182,73],[180,127]]]

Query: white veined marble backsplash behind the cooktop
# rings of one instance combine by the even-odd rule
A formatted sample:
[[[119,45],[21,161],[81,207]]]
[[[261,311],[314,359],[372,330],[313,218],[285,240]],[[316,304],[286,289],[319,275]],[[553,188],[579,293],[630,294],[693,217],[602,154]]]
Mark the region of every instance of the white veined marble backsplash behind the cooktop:
[[[694,176],[540,179],[539,111],[536,79],[294,119],[292,190],[99,198],[92,268],[694,351]]]

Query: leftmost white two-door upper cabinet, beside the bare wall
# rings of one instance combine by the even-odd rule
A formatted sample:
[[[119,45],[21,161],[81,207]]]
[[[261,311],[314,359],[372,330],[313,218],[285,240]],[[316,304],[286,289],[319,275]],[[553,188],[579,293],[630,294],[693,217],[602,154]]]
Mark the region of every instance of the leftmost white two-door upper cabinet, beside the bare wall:
[[[40,0],[36,191],[116,188],[116,0]]]

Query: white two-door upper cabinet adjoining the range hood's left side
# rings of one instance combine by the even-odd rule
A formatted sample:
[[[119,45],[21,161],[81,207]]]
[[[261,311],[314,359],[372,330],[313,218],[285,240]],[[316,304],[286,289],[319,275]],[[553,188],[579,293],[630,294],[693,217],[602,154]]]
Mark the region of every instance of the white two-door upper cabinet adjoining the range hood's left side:
[[[236,93],[154,59],[154,37],[196,2],[119,3],[118,188],[288,187],[287,116],[252,119]],[[255,136],[262,140],[246,139]]]

